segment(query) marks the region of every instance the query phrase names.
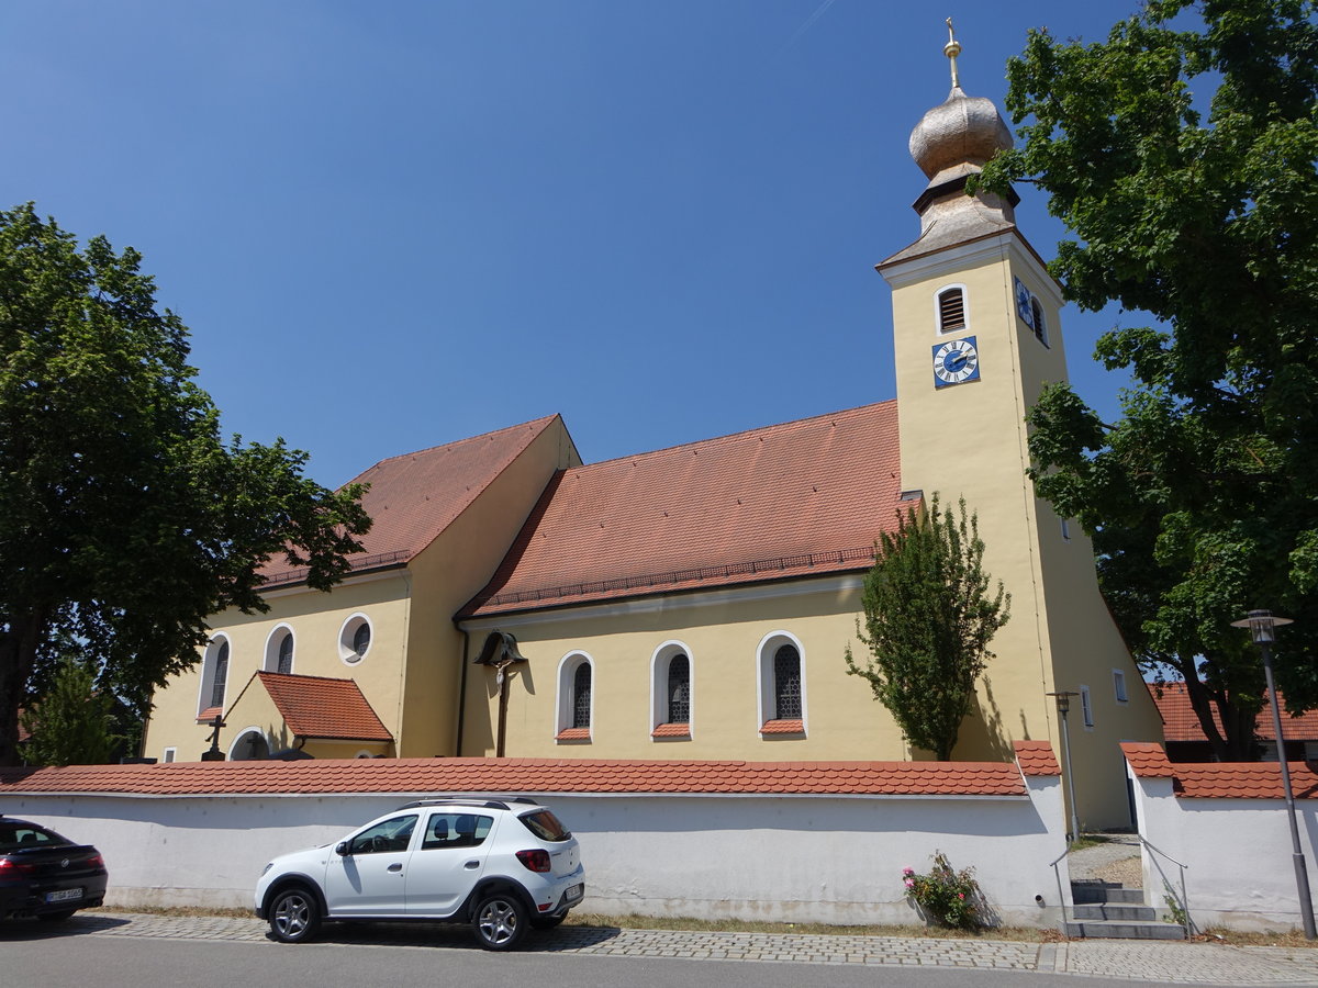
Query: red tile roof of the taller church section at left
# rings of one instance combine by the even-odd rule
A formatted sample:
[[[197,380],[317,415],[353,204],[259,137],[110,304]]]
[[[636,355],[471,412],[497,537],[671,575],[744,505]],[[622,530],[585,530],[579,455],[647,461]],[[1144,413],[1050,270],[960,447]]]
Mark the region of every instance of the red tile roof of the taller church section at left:
[[[374,519],[349,559],[353,569],[405,564],[430,545],[522,453],[558,415],[486,432],[416,453],[381,460],[355,483],[369,483],[362,507]],[[272,584],[298,582],[304,568],[273,559],[262,569]]]

